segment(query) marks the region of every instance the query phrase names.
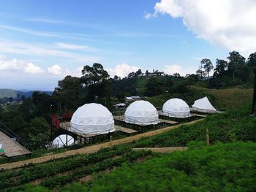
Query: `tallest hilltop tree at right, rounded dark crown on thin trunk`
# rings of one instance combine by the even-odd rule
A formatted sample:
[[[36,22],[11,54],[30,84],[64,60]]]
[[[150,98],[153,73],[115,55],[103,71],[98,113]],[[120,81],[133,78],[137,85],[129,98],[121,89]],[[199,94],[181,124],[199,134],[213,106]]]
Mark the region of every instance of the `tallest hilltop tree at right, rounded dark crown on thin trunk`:
[[[235,72],[239,66],[244,66],[245,58],[240,55],[236,50],[229,53],[227,57],[228,62],[228,70],[232,73],[233,80],[235,79]]]

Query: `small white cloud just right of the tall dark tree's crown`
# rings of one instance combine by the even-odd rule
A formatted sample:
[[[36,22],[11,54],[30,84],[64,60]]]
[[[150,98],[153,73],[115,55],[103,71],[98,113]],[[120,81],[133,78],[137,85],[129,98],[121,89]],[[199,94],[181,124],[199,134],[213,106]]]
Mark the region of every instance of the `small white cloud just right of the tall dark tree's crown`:
[[[106,69],[110,77],[117,75],[118,77],[127,77],[130,72],[136,72],[140,69],[138,66],[129,66],[128,64],[120,64],[115,68]]]

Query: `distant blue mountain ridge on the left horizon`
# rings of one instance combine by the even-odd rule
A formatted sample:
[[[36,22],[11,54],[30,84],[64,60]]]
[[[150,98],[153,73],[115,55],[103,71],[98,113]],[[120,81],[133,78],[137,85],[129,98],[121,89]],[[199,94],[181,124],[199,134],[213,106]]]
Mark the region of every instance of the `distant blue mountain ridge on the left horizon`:
[[[39,91],[39,92],[46,93],[49,96],[53,94],[53,91]],[[0,99],[4,97],[16,98],[18,93],[20,94],[20,96],[30,97],[34,93],[34,91],[27,91],[27,90],[18,91],[14,89],[0,88]]]

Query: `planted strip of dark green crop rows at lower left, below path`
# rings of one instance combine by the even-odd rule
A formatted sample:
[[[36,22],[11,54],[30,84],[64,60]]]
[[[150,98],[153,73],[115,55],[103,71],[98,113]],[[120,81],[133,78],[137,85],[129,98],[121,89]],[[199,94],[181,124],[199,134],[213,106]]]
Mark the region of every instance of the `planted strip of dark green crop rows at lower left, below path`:
[[[0,188],[4,191],[18,191],[23,190],[27,183],[55,188],[151,154],[150,151],[132,151],[127,145],[105,148],[91,155],[75,155],[43,164],[30,164],[1,172]]]

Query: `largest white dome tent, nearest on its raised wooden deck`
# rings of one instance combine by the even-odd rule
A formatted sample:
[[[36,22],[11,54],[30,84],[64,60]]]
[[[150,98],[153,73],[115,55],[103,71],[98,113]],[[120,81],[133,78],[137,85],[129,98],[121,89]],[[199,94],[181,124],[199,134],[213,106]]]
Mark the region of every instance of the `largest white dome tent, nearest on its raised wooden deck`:
[[[70,131],[81,131],[83,134],[108,134],[115,131],[113,115],[102,104],[84,104],[72,115]]]

